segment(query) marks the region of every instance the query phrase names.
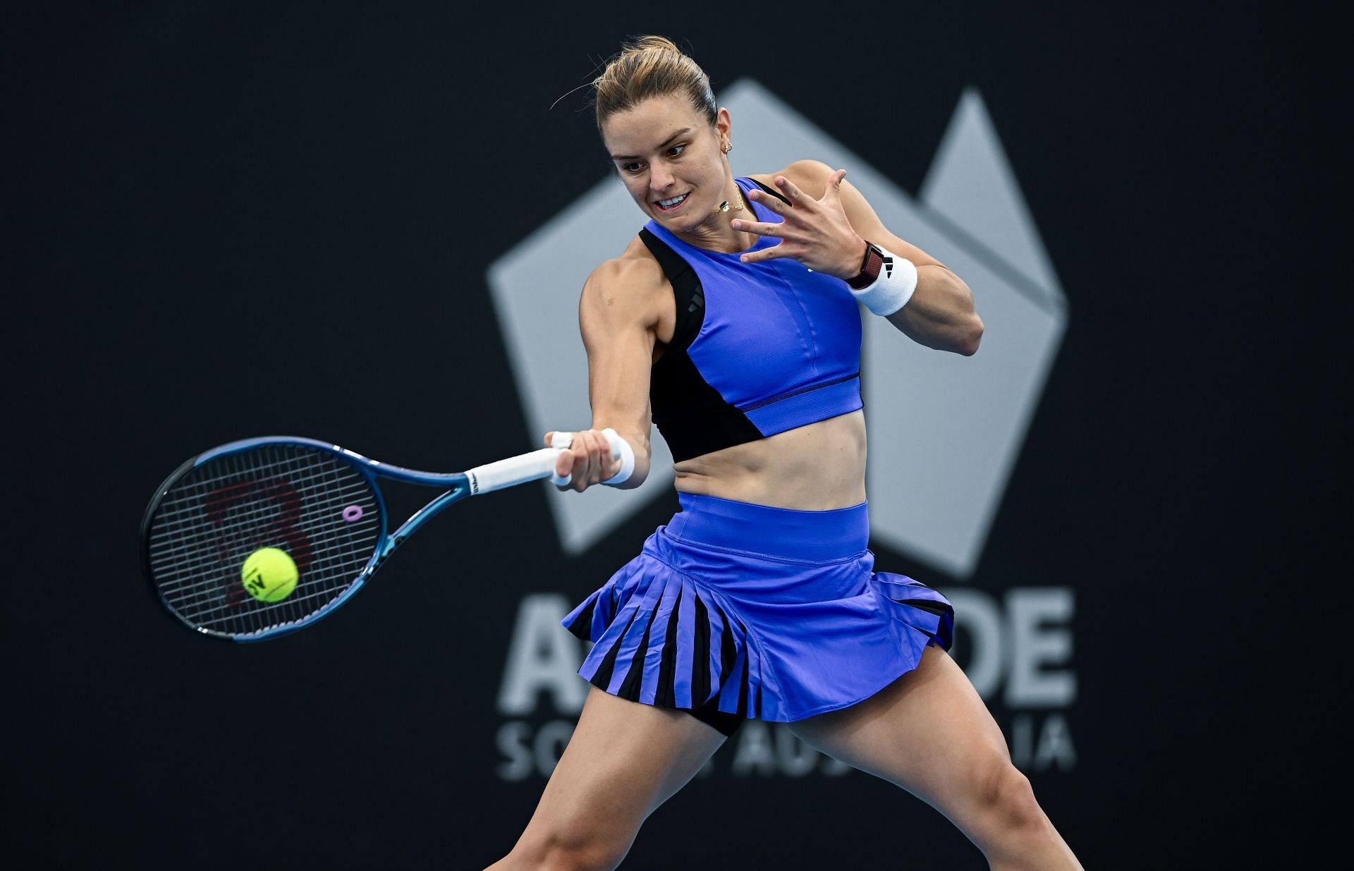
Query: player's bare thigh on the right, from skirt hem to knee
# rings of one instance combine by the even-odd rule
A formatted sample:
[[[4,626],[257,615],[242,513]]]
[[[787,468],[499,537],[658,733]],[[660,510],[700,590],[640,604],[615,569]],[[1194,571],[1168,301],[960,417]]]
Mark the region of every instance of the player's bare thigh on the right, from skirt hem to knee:
[[[873,696],[789,723],[834,759],[890,780],[967,828],[965,809],[1010,764],[1006,738],[963,669],[940,647]]]

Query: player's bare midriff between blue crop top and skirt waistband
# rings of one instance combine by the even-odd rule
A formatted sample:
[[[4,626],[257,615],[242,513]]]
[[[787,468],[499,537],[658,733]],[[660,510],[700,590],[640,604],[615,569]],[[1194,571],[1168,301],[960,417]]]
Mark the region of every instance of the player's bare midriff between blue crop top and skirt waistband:
[[[829,511],[865,501],[865,412],[829,417],[673,465],[678,493]]]

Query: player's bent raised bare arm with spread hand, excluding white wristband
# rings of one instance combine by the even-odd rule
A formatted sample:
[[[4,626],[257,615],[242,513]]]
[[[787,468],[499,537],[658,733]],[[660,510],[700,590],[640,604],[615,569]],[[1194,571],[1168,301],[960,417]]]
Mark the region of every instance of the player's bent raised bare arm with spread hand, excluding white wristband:
[[[760,253],[769,255],[789,242],[791,248],[777,256],[791,256],[815,271],[846,279],[860,271],[868,238],[917,267],[917,290],[907,305],[888,316],[888,322],[927,348],[965,356],[975,354],[983,337],[983,321],[974,309],[968,284],[936,257],[890,233],[861,192],[842,180],[845,175],[845,169],[834,172],[816,160],[800,160],[785,167],[784,172],[772,177],[772,184],[795,205],[792,210],[773,196],[753,191],[757,202],[779,211],[787,222],[756,225],[776,228],[769,234],[783,237],[780,245]],[[787,226],[791,214],[796,218],[793,224],[806,226]],[[747,224],[741,222],[741,229],[757,232]],[[803,229],[804,234],[800,237],[796,229]]]

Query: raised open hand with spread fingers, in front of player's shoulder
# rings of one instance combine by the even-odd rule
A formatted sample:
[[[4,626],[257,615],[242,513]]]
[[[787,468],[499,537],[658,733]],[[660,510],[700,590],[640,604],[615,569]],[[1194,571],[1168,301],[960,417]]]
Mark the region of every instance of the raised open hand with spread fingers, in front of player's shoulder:
[[[777,257],[793,257],[814,272],[835,275],[846,279],[860,272],[860,263],[865,257],[865,240],[862,240],[846,219],[842,209],[842,177],[845,169],[837,169],[827,179],[827,190],[822,199],[807,196],[783,175],[772,182],[781,190],[787,199],[793,203],[793,209],[787,206],[765,191],[749,191],[747,196],[756,199],[776,214],[781,215],[781,224],[762,224],[758,221],[735,219],[731,226],[735,230],[757,233],[758,236],[772,236],[780,240],[779,245],[754,251],[739,257],[743,263],[760,263]]]

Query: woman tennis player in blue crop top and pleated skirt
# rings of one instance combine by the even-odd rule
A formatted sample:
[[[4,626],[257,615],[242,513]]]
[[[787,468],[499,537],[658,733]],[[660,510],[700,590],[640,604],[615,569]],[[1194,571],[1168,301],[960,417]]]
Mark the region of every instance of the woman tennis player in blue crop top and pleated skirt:
[[[668,39],[626,46],[593,87],[649,222],[584,284],[593,428],[546,443],[571,442],[556,466],[571,489],[634,488],[653,420],[681,511],[566,618],[596,642],[580,671],[593,687],[492,867],[616,867],[645,818],[760,717],[929,802],[992,868],[1079,868],[945,653],[949,603],[873,572],[867,550],[857,303],[971,355],[983,324],[968,287],[890,233],[841,169],[735,179],[733,119]],[[906,433],[883,450],[909,450]]]

